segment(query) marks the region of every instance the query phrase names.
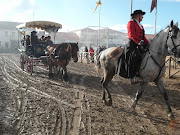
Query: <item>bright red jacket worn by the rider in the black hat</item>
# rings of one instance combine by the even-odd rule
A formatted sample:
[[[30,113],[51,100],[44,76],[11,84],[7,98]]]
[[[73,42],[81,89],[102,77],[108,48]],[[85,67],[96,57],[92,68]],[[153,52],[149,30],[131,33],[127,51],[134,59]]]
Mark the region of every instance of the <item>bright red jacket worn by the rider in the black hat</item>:
[[[132,39],[136,44],[139,44],[139,42],[143,40],[143,30],[139,27],[138,23],[135,22],[134,20],[131,20],[128,22],[127,30],[128,30],[128,38]],[[147,45],[149,44],[149,41],[146,39],[145,34],[144,34],[144,42]]]

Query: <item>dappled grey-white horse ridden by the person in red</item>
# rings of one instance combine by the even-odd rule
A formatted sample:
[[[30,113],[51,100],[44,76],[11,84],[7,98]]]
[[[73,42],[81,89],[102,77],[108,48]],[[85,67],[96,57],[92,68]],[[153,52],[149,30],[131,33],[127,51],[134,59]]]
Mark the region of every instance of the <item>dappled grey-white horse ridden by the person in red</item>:
[[[174,119],[163,82],[166,70],[165,60],[166,56],[169,55],[168,50],[171,50],[175,57],[180,57],[180,31],[178,23],[174,25],[173,20],[171,21],[170,26],[160,31],[149,44],[149,48],[140,65],[139,75],[142,78],[142,82],[140,83],[140,87],[131,107],[132,111],[135,110],[136,104],[142,96],[144,86],[146,86],[149,82],[155,82],[166,102],[168,117],[171,120]],[[103,67],[104,71],[104,77],[101,81],[103,90],[102,99],[107,105],[112,104],[111,94],[109,93],[107,86],[115,75],[118,59],[122,52],[123,48],[111,47],[102,51],[98,57],[99,59],[97,60],[96,66],[98,68]],[[108,94],[107,100],[105,92]]]

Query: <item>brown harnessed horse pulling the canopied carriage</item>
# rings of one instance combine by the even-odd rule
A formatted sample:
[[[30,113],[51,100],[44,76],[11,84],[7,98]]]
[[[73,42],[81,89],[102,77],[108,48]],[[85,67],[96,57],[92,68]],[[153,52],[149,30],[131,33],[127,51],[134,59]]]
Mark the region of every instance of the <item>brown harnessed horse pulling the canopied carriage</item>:
[[[54,55],[51,55],[54,51]],[[64,81],[68,80],[67,68],[71,58],[74,62],[78,61],[78,43],[62,43],[47,47],[47,59],[49,66],[49,77],[53,76],[53,69],[56,74],[60,73],[60,78]],[[62,70],[61,70],[62,69]],[[58,72],[57,72],[58,71]]]

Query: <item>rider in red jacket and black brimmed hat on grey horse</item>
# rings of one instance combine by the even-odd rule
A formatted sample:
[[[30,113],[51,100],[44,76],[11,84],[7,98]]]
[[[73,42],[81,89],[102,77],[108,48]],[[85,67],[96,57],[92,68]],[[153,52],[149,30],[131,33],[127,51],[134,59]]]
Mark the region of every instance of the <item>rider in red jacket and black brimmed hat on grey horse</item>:
[[[149,41],[145,37],[145,30],[143,28],[143,25],[140,23],[143,19],[143,15],[145,15],[145,12],[143,12],[142,10],[135,10],[131,14],[132,19],[127,24],[129,38],[128,47],[130,50],[138,48],[140,53],[142,53],[149,44]],[[139,63],[137,63],[136,72],[139,71],[140,63],[141,60]],[[131,79],[131,83],[138,82],[137,76],[139,76],[138,73]]]

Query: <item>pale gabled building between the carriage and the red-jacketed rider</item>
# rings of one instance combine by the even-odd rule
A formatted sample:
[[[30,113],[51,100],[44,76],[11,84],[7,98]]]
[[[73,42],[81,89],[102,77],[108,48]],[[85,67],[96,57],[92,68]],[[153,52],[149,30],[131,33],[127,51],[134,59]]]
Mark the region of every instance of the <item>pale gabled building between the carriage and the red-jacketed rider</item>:
[[[93,47],[95,50],[98,46],[123,46],[127,43],[127,34],[115,31],[109,28],[101,28],[100,30],[93,27],[87,27],[72,31],[79,36],[79,47],[81,50],[85,46]]]

